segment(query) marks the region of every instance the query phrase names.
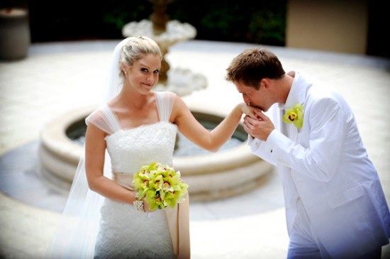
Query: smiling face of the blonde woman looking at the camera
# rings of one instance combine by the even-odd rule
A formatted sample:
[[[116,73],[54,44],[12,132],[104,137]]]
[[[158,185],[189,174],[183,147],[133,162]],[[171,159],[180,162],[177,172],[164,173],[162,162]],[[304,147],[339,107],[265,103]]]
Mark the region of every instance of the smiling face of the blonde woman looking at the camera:
[[[125,74],[131,87],[147,93],[157,84],[161,69],[161,60],[158,55],[147,54],[134,62]]]

